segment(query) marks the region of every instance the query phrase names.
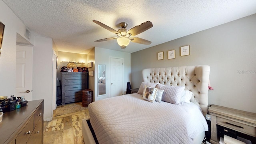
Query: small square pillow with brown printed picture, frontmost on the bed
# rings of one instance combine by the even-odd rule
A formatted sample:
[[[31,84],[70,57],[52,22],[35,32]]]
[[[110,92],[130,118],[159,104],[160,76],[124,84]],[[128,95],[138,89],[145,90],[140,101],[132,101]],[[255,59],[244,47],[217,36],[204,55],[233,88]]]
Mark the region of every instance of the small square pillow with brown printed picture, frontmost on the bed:
[[[154,102],[156,99],[157,90],[158,90],[157,88],[145,86],[142,94],[143,99],[149,102]]]

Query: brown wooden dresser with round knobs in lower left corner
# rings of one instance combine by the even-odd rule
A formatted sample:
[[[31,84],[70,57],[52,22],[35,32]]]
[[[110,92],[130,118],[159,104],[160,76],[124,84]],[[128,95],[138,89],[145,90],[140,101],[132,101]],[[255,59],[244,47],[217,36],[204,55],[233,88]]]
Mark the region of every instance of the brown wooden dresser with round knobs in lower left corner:
[[[44,143],[44,100],[5,112],[0,124],[0,144]]]

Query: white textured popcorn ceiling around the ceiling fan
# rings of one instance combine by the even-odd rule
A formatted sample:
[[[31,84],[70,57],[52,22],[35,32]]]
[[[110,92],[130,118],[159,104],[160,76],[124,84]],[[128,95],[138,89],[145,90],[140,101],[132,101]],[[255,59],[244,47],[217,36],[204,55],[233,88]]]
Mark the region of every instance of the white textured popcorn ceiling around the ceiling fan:
[[[38,36],[52,38],[63,52],[87,54],[94,46],[136,52],[256,13],[256,0],[3,0],[20,20]],[[150,45],[130,42],[121,50],[116,37],[92,22],[127,29],[146,21],[153,27],[136,37]]]

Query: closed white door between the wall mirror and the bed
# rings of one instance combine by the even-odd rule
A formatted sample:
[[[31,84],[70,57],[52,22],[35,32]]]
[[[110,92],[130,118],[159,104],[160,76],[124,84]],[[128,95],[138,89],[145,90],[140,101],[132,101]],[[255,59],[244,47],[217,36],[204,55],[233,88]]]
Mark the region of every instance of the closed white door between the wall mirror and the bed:
[[[123,59],[110,58],[110,97],[123,93]]]

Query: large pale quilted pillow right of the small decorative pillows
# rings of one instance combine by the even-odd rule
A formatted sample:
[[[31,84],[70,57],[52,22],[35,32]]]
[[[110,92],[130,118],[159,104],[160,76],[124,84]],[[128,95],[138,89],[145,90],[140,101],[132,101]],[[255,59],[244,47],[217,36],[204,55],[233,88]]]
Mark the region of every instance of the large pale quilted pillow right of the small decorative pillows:
[[[162,86],[160,88],[164,90],[162,101],[172,104],[182,104],[185,86]]]

